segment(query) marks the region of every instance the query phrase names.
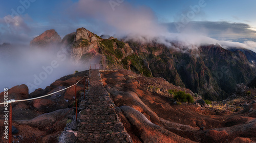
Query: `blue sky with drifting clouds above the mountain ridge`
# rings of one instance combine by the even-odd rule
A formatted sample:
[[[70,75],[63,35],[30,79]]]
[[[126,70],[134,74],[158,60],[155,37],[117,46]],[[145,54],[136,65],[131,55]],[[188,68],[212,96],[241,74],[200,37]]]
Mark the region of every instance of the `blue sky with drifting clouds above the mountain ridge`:
[[[87,28],[97,34],[125,34],[129,31],[140,31],[141,25],[134,24],[137,20],[143,22],[148,29],[158,27],[158,25],[167,25],[167,29],[171,33],[196,31],[212,38],[228,39],[235,42],[255,41],[256,39],[256,34],[254,33],[254,30],[256,30],[254,16],[256,13],[256,1],[252,0],[110,0],[118,4],[114,7],[115,10],[111,7],[110,1],[106,0],[21,0],[26,4],[29,3],[29,6],[24,11],[22,11],[24,6],[19,1],[0,1],[0,43],[15,42],[16,40],[18,42],[29,41],[48,29],[55,29],[62,37],[74,32],[79,27]],[[182,27],[181,31],[177,31],[177,26],[174,22],[181,23],[182,15],[187,15],[191,12],[191,7],[198,6],[199,3],[203,3],[204,7],[200,7],[198,13],[189,18],[188,23],[185,25],[183,23],[184,28]],[[15,12],[20,10],[22,13],[15,19],[11,16],[12,9]],[[90,11],[86,9],[90,9]],[[121,14],[124,16],[122,17]],[[113,16],[111,17],[110,15]],[[17,21],[16,23],[10,23],[9,27],[6,25],[5,18],[8,16]],[[104,19],[106,17],[108,19]],[[118,19],[115,17],[118,17]],[[123,26],[117,25],[116,23],[120,22],[122,18],[126,20],[126,23],[130,21],[133,21],[133,23]],[[114,22],[109,19],[113,19]],[[131,20],[129,21],[129,19]],[[143,20],[140,21],[140,19]],[[153,22],[147,25],[146,21]],[[219,21],[224,22],[224,25]],[[197,22],[204,22],[203,24],[200,23],[203,26],[203,30],[196,27]],[[231,23],[231,25],[228,28],[221,29],[226,27],[227,23]],[[247,26],[232,25],[233,23],[243,23]],[[131,25],[134,25],[134,31],[131,30],[133,27],[122,30],[122,27]],[[146,28],[142,28],[147,32]],[[141,30],[141,32],[144,31]],[[218,31],[221,33],[218,34]],[[152,31],[151,33],[154,32]],[[14,37],[13,41],[10,40],[10,37]]]

